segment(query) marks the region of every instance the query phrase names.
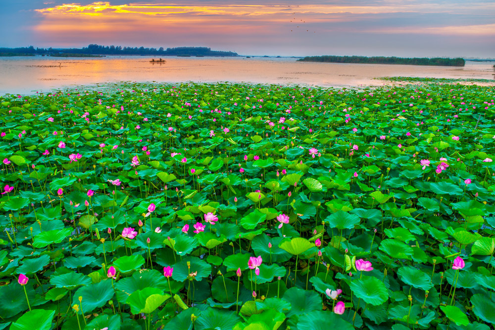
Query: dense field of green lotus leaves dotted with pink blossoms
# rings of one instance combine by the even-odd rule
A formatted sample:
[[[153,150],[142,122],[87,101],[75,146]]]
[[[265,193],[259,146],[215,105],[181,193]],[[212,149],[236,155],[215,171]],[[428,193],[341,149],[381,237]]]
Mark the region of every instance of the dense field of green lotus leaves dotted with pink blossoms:
[[[495,89],[0,98],[0,329],[493,329]]]

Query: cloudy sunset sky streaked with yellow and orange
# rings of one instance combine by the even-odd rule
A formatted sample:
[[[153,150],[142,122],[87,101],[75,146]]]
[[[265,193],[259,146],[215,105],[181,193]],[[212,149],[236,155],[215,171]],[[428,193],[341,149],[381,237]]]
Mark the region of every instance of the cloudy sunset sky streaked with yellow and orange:
[[[0,47],[495,57],[494,0],[0,2]]]

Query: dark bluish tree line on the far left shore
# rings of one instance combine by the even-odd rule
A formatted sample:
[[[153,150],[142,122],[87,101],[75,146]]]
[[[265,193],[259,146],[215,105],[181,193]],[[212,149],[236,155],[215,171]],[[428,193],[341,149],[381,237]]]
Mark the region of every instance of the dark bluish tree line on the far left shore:
[[[167,48],[144,48],[144,47],[122,47],[102,46],[91,44],[83,48],[53,49],[53,48],[0,48],[0,54],[9,55],[47,55],[47,54],[89,54],[89,55],[155,55],[155,56],[238,56],[234,52],[212,51],[207,47],[176,47]]]

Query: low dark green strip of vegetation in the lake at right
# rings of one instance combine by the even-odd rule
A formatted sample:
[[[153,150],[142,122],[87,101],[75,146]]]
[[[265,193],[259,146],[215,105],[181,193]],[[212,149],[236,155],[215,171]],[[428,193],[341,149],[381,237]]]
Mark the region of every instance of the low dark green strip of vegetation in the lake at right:
[[[464,66],[464,59],[443,58],[443,57],[386,57],[386,56],[306,56],[297,61],[301,62],[332,62],[332,63],[365,63],[365,64],[409,64],[409,65],[443,65],[443,66]]]

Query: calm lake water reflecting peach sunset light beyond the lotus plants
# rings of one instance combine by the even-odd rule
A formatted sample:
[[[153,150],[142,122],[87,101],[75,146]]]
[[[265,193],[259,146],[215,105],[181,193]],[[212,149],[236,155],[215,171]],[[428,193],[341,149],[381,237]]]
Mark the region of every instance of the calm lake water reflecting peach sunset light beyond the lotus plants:
[[[376,77],[494,79],[494,62],[466,61],[464,67],[297,62],[296,58],[165,57],[101,58],[0,57],[0,95],[74,88],[97,83],[250,82],[335,87],[380,86]]]

